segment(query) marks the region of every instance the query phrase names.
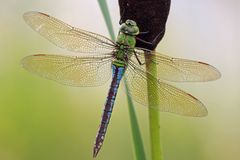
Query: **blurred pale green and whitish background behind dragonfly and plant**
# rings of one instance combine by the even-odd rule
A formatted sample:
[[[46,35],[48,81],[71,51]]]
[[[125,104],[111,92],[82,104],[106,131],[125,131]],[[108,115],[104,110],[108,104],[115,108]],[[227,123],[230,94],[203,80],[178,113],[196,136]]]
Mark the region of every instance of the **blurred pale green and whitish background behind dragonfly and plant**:
[[[115,32],[117,0],[108,0]],[[0,2],[0,160],[88,160],[109,83],[96,88],[63,86],[32,75],[20,60],[34,53],[67,53],[33,32],[22,14],[36,10],[108,36],[97,1]],[[157,51],[216,66],[218,81],[174,84],[208,108],[204,118],[161,114],[164,160],[240,159],[240,4],[238,0],[172,1],[165,38]],[[109,37],[109,36],[108,36]],[[147,108],[136,103],[147,157]],[[120,89],[104,146],[97,159],[132,160],[125,93]]]

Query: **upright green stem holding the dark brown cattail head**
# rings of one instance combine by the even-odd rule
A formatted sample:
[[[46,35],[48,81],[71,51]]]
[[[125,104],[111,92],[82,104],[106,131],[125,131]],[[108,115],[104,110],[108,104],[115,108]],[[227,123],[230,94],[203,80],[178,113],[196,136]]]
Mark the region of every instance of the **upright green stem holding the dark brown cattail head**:
[[[146,61],[152,59],[154,61],[155,55],[145,54]],[[157,77],[157,66],[155,63],[147,63],[146,69],[152,76]],[[149,78],[150,79],[150,78]],[[150,85],[148,82],[148,93],[154,92],[158,93],[157,88],[153,86],[157,86],[157,79],[153,81],[155,85]],[[149,95],[149,94],[148,94]],[[148,97],[148,104],[152,106],[158,100],[158,95],[153,95]],[[150,127],[150,142],[151,142],[151,154],[152,160],[161,160],[161,141],[160,141],[160,112],[155,109],[149,108],[149,127]]]

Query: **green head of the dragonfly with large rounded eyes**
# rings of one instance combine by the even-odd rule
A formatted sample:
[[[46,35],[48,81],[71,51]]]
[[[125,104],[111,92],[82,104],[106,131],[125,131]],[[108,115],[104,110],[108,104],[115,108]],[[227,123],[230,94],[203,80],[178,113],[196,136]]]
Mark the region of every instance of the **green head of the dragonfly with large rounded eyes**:
[[[123,23],[120,27],[120,32],[123,32],[125,34],[136,36],[139,34],[139,28],[137,26],[137,23],[133,20],[126,20],[125,23]]]

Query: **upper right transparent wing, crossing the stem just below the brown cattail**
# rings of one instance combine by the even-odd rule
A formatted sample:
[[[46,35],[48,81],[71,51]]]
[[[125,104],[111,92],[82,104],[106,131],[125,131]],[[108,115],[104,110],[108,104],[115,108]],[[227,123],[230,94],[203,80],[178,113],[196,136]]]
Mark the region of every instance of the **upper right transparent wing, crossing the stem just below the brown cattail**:
[[[187,59],[172,58],[157,52],[146,49],[137,48],[136,55],[143,63],[142,70],[146,71],[146,64],[157,64],[157,78],[173,82],[203,82],[212,81],[221,77],[220,72],[213,66]],[[154,54],[154,58],[145,59],[145,54],[150,57]],[[131,57],[136,61],[136,57]]]

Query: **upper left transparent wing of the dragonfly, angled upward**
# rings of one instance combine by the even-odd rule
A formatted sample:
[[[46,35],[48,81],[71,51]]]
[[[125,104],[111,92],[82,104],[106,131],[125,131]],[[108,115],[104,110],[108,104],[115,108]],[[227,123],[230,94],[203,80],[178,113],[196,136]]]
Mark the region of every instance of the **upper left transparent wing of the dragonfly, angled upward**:
[[[115,46],[104,36],[74,28],[44,13],[27,12],[23,18],[33,30],[69,51],[102,54],[112,52]]]

